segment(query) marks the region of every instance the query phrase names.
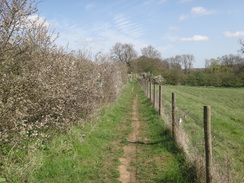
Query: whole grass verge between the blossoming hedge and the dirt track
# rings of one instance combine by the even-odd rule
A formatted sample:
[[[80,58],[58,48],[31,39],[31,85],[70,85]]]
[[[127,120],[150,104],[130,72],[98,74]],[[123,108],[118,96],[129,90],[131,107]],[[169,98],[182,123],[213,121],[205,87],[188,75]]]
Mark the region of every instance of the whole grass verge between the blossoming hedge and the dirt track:
[[[133,94],[127,85],[119,100],[106,107],[99,119],[73,126],[67,134],[56,133],[45,147],[35,152],[13,151],[6,165],[8,182],[118,182],[118,157],[122,150],[113,142],[126,138]],[[26,155],[24,155],[26,153]],[[21,162],[16,162],[21,156]],[[14,167],[12,167],[12,165]],[[11,166],[11,168],[7,168]],[[0,179],[1,180],[1,179]],[[4,179],[3,179],[4,180]]]

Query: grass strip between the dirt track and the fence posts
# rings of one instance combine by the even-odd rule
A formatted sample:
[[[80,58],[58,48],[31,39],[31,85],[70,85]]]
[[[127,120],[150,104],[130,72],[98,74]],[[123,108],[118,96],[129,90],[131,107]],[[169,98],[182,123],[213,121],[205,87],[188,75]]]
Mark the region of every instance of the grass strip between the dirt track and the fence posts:
[[[138,146],[137,169],[139,182],[198,182],[194,170],[185,162],[182,151],[165,129],[158,112],[155,111],[139,90],[140,139],[147,139]]]

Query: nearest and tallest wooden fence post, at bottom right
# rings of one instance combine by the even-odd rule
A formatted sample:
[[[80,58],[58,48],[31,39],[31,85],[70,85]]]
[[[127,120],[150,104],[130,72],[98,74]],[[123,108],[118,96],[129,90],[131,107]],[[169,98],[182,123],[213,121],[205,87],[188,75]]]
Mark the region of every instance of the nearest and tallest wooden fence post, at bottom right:
[[[213,182],[212,175],[212,136],[211,136],[211,107],[204,106],[204,138],[206,160],[206,183]]]

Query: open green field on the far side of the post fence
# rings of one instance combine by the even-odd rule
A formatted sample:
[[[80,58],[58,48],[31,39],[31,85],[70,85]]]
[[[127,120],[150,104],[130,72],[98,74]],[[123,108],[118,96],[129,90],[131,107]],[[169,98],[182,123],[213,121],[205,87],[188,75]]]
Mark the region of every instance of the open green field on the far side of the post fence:
[[[172,93],[177,119],[183,121],[179,125],[200,154],[204,154],[203,106],[211,106],[214,165],[230,179],[243,181],[244,88],[162,86],[163,110],[169,115]]]

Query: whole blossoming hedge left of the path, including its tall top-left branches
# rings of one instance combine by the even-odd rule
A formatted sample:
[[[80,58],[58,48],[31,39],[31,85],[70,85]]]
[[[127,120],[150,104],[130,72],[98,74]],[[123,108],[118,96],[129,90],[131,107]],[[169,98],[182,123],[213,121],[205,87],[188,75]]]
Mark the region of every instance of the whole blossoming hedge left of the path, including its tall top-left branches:
[[[126,66],[109,57],[91,61],[86,52],[58,48],[45,22],[28,19],[36,12],[34,2],[1,2],[1,153],[86,119],[114,101],[127,82]]]

